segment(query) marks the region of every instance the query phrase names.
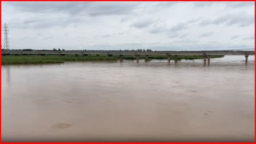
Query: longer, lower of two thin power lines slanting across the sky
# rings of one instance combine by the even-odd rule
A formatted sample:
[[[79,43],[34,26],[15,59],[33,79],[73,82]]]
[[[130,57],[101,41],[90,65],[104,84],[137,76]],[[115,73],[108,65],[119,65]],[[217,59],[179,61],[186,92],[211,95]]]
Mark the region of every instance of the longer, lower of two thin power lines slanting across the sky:
[[[115,12],[119,12],[119,11],[127,11],[127,10],[135,10],[135,9],[144,9],[144,8],[148,8],[148,7],[155,7],[155,6],[172,5],[172,4],[175,4],[175,3],[183,3],[183,2],[173,2],[173,3],[166,3],[166,4],[162,4],[162,5],[144,6],[144,7],[137,7],[137,8],[133,8],[133,9],[125,9],[125,10],[105,11],[105,12],[101,12],[101,13],[93,13],[93,14],[74,15],[74,16],[70,16],[70,17],[51,18],[51,19],[42,19],[42,20],[38,20],[38,21],[17,22],[17,23],[7,23],[7,25],[21,24],[21,23],[31,23],[31,22],[42,22],[42,21],[50,21],[50,20],[63,19],[63,18],[83,17],[83,16],[87,16],[87,15],[98,15],[98,14],[106,14],[106,13],[115,13]]]

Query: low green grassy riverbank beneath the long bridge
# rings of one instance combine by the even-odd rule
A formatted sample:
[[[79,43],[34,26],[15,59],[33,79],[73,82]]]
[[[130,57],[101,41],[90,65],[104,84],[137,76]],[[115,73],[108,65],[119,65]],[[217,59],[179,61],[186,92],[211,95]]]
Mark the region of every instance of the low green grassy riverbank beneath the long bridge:
[[[210,58],[221,58],[224,55],[211,55]],[[202,59],[202,55],[178,55],[177,60],[182,59]],[[15,64],[45,64],[45,63],[63,63],[69,61],[117,61],[119,59],[118,55],[113,55],[109,57],[107,55],[65,55],[65,56],[58,56],[58,55],[45,55],[45,56],[38,56],[38,55],[27,55],[27,56],[18,56],[18,55],[9,55],[9,56],[2,56],[2,65],[15,65]],[[125,55],[123,59],[136,59],[135,56]],[[146,59],[145,56],[139,57],[139,59]],[[149,60],[151,59],[167,59],[165,55],[151,55],[149,56]],[[174,59],[174,55],[172,57]]]

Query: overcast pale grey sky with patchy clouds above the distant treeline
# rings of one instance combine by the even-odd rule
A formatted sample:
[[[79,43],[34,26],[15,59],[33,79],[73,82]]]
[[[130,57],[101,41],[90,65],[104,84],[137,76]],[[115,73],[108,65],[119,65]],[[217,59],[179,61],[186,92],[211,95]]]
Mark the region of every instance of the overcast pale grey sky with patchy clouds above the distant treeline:
[[[2,2],[10,48],[254,49],[254,2],[81,3]],[[57,6],[63,7],[45,9]],[[45,10],[18,13],[37,9]],[[104,13],[109,11],[116,12]]]

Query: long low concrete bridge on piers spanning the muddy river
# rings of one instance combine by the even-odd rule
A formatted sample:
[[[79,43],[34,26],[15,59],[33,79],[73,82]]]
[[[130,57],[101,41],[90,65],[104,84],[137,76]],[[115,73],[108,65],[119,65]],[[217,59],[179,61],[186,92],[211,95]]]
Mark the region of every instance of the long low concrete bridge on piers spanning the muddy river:
[[[7,55],[108,55],[109,57],[113,55],[119,55],[122,62],[123,55],[135,55],[137,57],[137,62],[141,55],[145,55],[146,59],[149,55],[166,55],[168,62],[171,61],[171,55],[175,58],[178,55],[202,55],[204,61],[208,59],[210,61],[210,55],[245,55],[245,62],[247,63],[249,55],[254,55],[254,51],[242,51],[242,50],[217,50],[217,51],[13,51],[13,50],[3,50],[1,52],[2,56]]]

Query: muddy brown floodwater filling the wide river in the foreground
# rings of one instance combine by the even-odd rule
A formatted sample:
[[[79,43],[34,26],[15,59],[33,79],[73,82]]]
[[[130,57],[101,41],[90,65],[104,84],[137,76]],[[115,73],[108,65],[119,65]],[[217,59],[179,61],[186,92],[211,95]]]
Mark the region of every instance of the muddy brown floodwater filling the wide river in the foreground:
[[[2,141],[254,141],[254,56],[2,66]]]

